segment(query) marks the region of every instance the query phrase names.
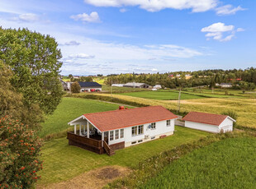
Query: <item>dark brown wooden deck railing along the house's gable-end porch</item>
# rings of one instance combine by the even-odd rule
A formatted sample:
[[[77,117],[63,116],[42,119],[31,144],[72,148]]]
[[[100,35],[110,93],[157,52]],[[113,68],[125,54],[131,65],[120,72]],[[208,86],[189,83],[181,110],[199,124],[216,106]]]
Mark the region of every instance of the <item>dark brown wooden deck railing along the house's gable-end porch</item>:
[[[89,145],[96,148],[102,148],[102,141],[97,141],[95,139],[87,138],[85,136],[79,136],[74,134],[73,132],[68,132],[68,139],[78,142],[82,145]]]

